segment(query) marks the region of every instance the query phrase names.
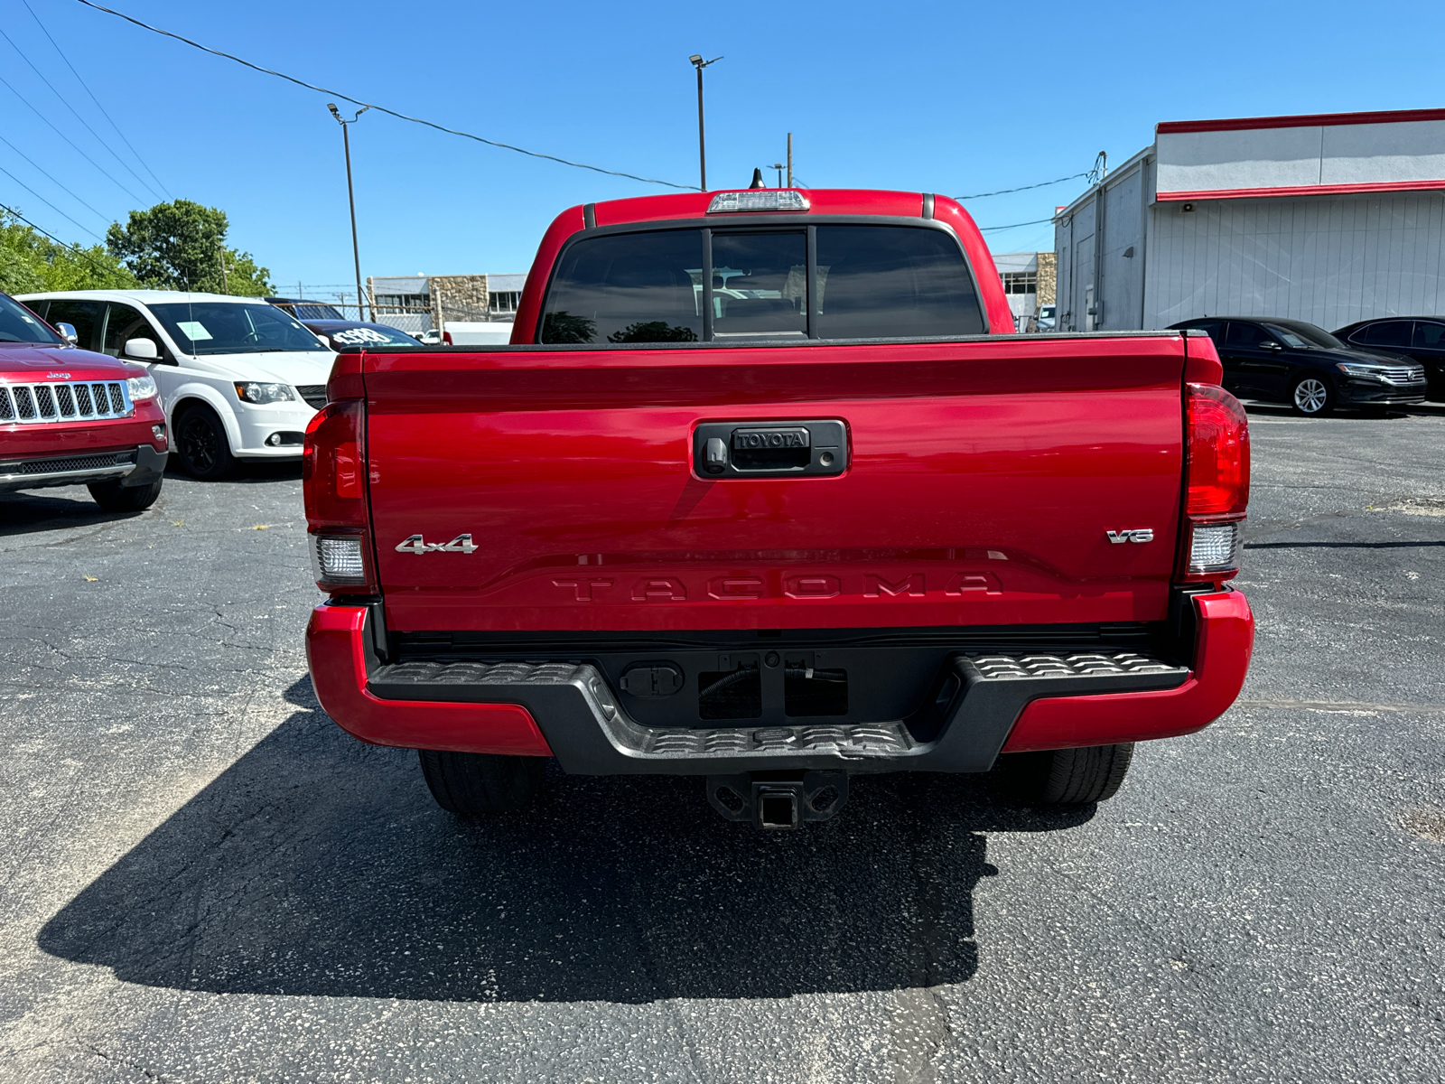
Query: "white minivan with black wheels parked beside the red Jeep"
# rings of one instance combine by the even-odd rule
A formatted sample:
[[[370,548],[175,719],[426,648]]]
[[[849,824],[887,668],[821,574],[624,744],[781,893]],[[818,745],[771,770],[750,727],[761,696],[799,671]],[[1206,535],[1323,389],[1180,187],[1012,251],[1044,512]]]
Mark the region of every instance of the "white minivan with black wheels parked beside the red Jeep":
[[[175,291],[66,291],[17,298],[75,343],[150,370],[171,448],[198,478],[236,460],[301,455],[306,423],[327,403],[335,354],[260,298]]]

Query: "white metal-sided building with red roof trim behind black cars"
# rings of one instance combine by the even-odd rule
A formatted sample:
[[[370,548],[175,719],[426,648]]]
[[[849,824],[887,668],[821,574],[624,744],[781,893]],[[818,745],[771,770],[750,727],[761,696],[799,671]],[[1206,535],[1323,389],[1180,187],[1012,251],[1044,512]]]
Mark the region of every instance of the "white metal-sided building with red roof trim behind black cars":
[[[1159,124],[1055,253],[1062,331],[1445,315],[1445,110]]]

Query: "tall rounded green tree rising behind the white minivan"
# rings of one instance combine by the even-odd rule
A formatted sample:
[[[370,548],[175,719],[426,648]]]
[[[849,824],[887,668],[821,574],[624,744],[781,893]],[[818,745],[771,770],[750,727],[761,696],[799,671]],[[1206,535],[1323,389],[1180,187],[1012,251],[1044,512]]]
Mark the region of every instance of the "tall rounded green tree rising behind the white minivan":
[[[225,211],[175,199],[149,211],[131,211],[124,225],[110,227],[105,246],[142,283],[155,289],[244,298],[273,293],[267,267],[259,267],[249,251],[225,247],[227,228]]]

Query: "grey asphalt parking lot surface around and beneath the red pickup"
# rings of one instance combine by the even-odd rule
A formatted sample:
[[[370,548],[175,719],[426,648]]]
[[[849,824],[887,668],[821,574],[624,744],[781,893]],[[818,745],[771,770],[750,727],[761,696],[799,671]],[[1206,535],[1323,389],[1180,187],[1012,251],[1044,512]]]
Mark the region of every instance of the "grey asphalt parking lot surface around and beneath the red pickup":
[[[1065,815],[458,822],[315,702],[296,470],[0,496],[0,1080],[1445,1078],[1445,409],[1250,413],[1244,694]]]

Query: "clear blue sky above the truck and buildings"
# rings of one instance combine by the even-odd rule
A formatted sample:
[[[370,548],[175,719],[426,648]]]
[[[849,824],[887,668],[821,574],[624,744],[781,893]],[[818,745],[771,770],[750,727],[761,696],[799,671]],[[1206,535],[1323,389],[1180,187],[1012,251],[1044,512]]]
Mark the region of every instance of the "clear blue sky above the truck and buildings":
[[[233,244],[283,291],[351,280],[328,95],[75,0],[29,3],[143,165],[22,0],[4,0],[0,27],[116,156],[0,39],[0,77],[40,114],[0,85],[0,134],[14,147],[0,143],[0,168],[14,178],[0,173],[0,202],[64,240],[92,241],[110,220],[158,199],[139,175],[166,198],[227,211]],[[722,55],[707,74],[712,188],[743,186],[753,166],[782,160],[788,132],[809,186],[964,195],[1078,173],[1098,150],[1123,162],[1160,120],[1445,106],[1438,0],[1387,12],[1328,1],[108,6],[355,98],[678,184],[696,184],[698,172],[688,55]],[[353,136],[363,275],[525,270],[559,210],[668,191],[377,113]],[[1023,223],[1082,188],[1074,181],[967,207],[980,225]],[[1017,251],[1052,249],[1053,236],[1032,225],[988,238],[996,251]]]

